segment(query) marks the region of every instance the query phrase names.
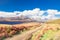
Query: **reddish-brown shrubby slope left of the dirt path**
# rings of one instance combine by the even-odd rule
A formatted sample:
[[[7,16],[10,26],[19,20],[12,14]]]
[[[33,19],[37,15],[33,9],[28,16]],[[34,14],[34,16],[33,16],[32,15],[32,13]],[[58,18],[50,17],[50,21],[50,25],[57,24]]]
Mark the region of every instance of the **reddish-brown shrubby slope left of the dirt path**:
[[[25,34],[25,32],[36,29],[37,27],[40,27],[40,26],[41,26],[41,24],[38,22],[29,22],[29,23],[14,24],[14,25],[0,24],[0,40],[4,40],[4,39],[10,38],[10,37],[13,38],[13,36],[17,35],[17,34],[19,34],[19,35],[21,35],[22,33]],[[35,30],[33,30],[33,32],[34,31]],[[30,35],[30,32],[28,32],[29,35]],[[25,36],[22,35],[21,37],[24,38]],[[17,37],[17,39],[20,39],[21,37],[19,36],[19,38]],[[13,38],[13,39],[15,40],[15,38]]]

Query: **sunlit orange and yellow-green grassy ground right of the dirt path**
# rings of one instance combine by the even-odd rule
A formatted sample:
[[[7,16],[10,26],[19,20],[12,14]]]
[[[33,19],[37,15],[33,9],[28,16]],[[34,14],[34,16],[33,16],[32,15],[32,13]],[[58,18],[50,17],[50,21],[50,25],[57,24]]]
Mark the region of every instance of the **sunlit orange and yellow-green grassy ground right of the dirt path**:
[[[60,40],[60,24],[43,24],[42,27],[33,33],[31,40]]]

